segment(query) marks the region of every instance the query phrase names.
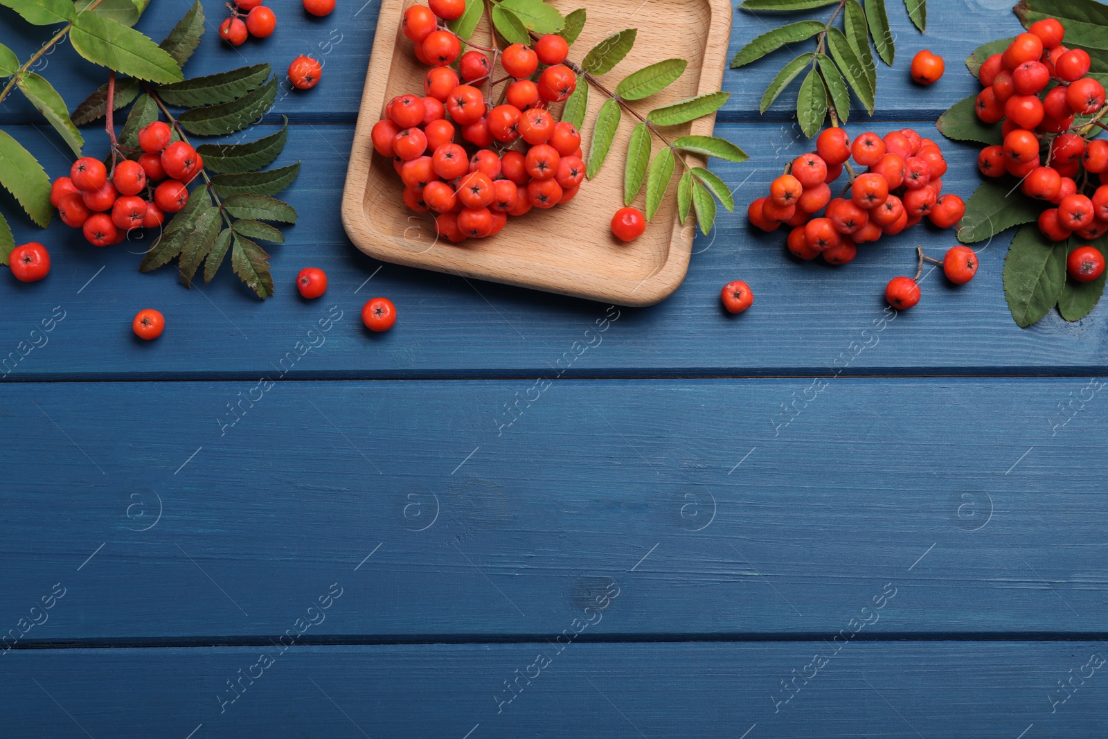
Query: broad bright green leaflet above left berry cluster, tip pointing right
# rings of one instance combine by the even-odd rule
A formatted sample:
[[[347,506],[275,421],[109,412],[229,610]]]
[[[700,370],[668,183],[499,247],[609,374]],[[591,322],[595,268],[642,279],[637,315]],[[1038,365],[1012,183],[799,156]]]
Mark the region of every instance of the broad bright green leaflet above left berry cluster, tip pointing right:
[[[110,18],[78,13],[70,30],[73,49],[93,64],[150,82],[179,82],[177,62],[148,38]]]

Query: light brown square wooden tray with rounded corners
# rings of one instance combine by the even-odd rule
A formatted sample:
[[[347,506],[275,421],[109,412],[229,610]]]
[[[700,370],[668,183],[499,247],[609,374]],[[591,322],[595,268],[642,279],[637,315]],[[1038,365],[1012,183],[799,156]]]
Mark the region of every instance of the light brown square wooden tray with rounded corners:
[[[634,127],[626,112],[607,162],[595,178],[582,185],[576,198],[512,218],[494,237],[459,245],[438,242],[433,214],[420,216],[404,207],[400,178],[392,162],[373,151],[370,131],[382,117],[388,100],[423,89],[427,68],[400,31],[402,12],[414,0],[381,3],[342,195],[342,223],[355,246],[384,261],[624,306],[648,306],[669,297],[685,279],[696,230],[677,220],[676,176],[642,237],[623,244],[612,236],[608,225],[612,214],[623,205],[624,162]],[[609,83],[608,89],[663,59],[688,60],[688,69],[677,82],[632,103],[644,115],[659,105],[720,89],[733,12],[729,0],[557,0],[552,4],[563,13],[578,7],[588,11],[588,22],[570,53],[577,62],[612,33],[638,29],[630,54],[601,78]],[[489,28],[482,22],[473,41],[488,39]],[[604,100],[595,88],[589,90],[582,144],[586,155],[589,132]],[[561,105],[552,112],[557,119]],[[673,137],[710,135],[714,127],[715,115],[666,132]],[[658,142],[654,151],[658,151]],[[639,208],[645,191],[636,203]]]

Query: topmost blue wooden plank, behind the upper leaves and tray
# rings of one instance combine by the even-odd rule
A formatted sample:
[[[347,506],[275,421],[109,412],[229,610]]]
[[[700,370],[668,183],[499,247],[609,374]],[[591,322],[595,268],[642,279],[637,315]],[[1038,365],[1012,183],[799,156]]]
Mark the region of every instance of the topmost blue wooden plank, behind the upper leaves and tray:
[[[556,4],[570,9],[575,6],[573,2]],[[929,7],[927,32],[921,35],[903,7],[890,3],[890,24],[897,45],[896,63],[889,68],[878,62],[876,117],[935,119],[951,104],[976,92],[976,81],[965,69],[963,61],[984,41],[1012,35],[1019,30],[1018,21],[1008,12],[1010,4],[1007,0],[932,2]],[[187,7],[184,0],[165,4],[155,2],[137,28],[160,40]],[[285,83],[283,95],[268,120],[279,122],[279,115],[285,114],[295,122],[353,123],[361,100],[379,3],[375,0],[342,0],[330,16],[321,19],[305,13],[299,3],[290,3],[288,8],[279,9],[277,31],[273,37],[265,40],[252,39],[237,49],[226,47],[216,35],[218,23],[227,16],[223,3],[218,0],[205,0],[204,8],[211,22],[201,49],[186,68],[189,75],[211,74],[247,63],[269,62],[284,76],[284,70],[294,57],[312,53],[325,62],[324,81],[307,94],[290,92]],[[792,14],[738,11],[733,19],[728,59],[756,35],[777,25],[801,18],[825,20],[829,14],[830,9]],[[396,19],[390,22],[396,22]],[[9,45],[20,59],[30,57],[50,35],[47,29],[29,27],[7,9],[0,9],[0,34],[6,42],[11,38],[12,43]],[[946,60],[946,76],[932,88],[913,84],[907,73],[912,55],[923,48],[931,49]],[[762,120],[758,114],[758,103],[769,81],[792,58],[793,52],[813,49],[814,42],[793,44],[791,49],[774,52],[750,66],[728,70],[724,76],[724,90],[730,92],[732,97],[720,112],[719,120]],[[658,54],[660,59],[666,52],[659,50]],[[47,76],[71,107],[104,82],[102,70],[81,60],[68,44],[45,59],[47,62],[41,66],[49,70]],[[787,90],[773,105],[769,120],[792,117],[790,111],[794,110],[797,85],[799,82]],[[290,94],[285,94],[289,92]],[[855,116],[858,120],[865,117],[856,102]],[[6,101],[0,109],[0,124],[35,120],[38,114],[33,107],[21,99]]]

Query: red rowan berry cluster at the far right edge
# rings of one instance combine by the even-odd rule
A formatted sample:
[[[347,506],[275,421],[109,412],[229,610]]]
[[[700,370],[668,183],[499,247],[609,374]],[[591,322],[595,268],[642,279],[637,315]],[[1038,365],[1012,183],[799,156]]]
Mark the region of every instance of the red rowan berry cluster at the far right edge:
[[[1091,240],[1108,233],[1108,142],[1087,140],[1092,126],[1075,120],[1101,112],[1105,89],[1087,76],[1089,54],[1067,49],[1064,38],[1058,20],[1036,21],[981,65],[977,117],[1004,121],[1004,144],[983,148],[977,168],[986,177],[1018,177],[1025,195],[1054,205],[1038,218],[1050,240],[1070,234]],[[1099,186],[1094,182],[1087,194],[1089,174]]]

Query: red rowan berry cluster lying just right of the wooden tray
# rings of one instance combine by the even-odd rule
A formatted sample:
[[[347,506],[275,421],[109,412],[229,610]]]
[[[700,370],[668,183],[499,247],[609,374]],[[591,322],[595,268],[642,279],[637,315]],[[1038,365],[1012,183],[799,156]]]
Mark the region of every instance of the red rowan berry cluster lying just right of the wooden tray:
[[[849,160],[868,167],[855,174]],[[831,183],[843,167],[850,183],[831,197]],[[863,133],[851,142],[842,129],[828,129],[815,141],[815,152],[797,157],[747,211],[762,230],[792,227],[790,253],[801,259],[823,257],[844,265],[858,255],[858,244],[899,234],[926,216],[940,228],[962,219],[965,203],[943,194],[946,161],[938,145],[912,129],[885,134]],[[827,208],[824,215],[817,214]]]

